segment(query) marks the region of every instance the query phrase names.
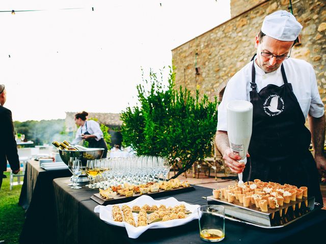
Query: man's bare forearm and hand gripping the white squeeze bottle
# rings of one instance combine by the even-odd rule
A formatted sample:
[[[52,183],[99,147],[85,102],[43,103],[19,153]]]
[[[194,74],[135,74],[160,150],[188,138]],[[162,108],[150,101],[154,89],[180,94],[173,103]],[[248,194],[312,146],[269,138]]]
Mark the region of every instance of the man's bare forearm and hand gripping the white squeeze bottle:
[[[229,144],[229,137],[226,131],[216,131],[215,143],[219,151],[223,155],[225,164],[234,173],[241,173],[244,169],[244,163],[239,163],[241,157],[232,152]]]

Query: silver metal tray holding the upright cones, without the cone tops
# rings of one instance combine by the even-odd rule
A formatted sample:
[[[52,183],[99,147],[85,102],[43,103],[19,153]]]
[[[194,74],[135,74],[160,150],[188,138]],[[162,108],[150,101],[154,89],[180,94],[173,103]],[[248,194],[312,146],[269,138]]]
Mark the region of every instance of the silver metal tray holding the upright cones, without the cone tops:
[[[303,197],[284,203],[279,208],[268,208],[262,212],[255,204],[244,207],[238,200],[230,203],[226,199],[215,199],[213,196],[206,198],[208,204],[218,204],[225,207],[225,218],[254,225],[262,228],[280,228],[301,219],[322,206],[315,202],[315,197]]]

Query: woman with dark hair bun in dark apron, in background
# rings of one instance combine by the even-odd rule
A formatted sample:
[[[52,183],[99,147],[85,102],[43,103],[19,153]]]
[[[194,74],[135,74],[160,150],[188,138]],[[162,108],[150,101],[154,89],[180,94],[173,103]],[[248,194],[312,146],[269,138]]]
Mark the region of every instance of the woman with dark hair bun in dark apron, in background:
[[[88,112],[85,111],[75,114],[75,123],[79,128],[72,144],[77,144],[84,139],[89,142],[89,147],[104,148],[102,158],[106,158],[107,145],[103,139],[100,125],[95,120],[87,120],[87,116]]]

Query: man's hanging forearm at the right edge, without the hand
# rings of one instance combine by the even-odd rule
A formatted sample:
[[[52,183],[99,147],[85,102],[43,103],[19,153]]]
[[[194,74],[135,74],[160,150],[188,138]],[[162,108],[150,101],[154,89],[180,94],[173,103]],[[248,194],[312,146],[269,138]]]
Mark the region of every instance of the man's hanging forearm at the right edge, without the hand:
[[[316,156],[323,156],[325,141],[325,115],[315,118],[308,114],[309,129],[311,132],[312,145]]]

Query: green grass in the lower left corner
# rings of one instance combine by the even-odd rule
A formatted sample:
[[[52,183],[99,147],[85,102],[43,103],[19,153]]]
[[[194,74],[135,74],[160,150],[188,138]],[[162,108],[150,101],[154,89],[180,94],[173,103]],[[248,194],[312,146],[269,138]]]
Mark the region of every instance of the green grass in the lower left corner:
[[[9,190],[10,173],[5,172],[0,190],[0,240],[6,244],[19,243],[19,235],[24,223],[25,211],[18,205],[21,185]]]

